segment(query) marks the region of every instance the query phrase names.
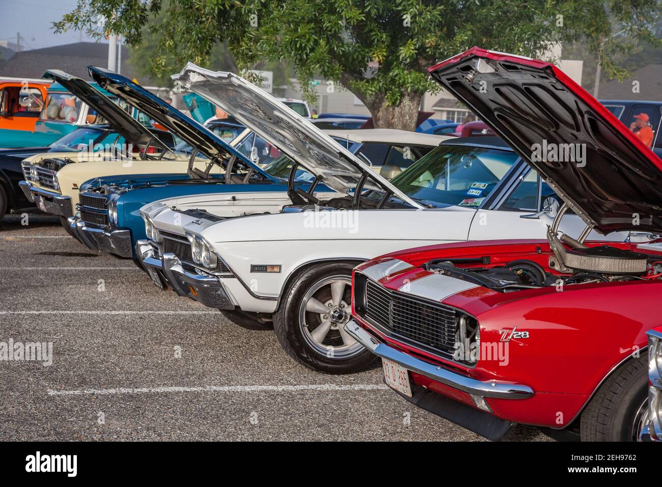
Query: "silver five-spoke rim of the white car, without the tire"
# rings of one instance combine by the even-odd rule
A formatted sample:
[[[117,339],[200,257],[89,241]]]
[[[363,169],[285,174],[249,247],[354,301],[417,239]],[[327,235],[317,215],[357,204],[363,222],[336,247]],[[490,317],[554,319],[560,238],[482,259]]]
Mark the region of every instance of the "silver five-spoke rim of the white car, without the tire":
[[[310,287],[301,301],[299,326],[307,345],[328,358],[347,359],[363,351],[344,329],[352,318],[352,278],[328,276]]]

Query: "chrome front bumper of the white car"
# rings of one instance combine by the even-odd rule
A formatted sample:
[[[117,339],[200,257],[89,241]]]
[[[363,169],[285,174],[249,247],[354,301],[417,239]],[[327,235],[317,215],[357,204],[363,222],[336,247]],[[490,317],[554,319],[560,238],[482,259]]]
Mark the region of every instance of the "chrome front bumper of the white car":
[[[185,269],[175,254],[160,256],[154,244],[148,240],[139,240],[136,242],[136,255],[146,270],[151,268],[158,272],[179,296],[195,299],[207,307],[234,309],[232,300],[218,278]]]

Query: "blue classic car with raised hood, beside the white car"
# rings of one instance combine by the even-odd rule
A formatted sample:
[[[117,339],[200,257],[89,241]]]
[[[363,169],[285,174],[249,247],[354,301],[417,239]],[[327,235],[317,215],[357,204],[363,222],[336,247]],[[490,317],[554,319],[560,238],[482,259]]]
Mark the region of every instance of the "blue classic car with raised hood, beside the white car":
[[[228,216],[240,216],[280,211],[297,198],[299,191],[326,193],[326,196],[335,194],[332,189],[318,185],[318,181],[308,180],[305,174],[293,184],[287,184],[283,178],[260,168],[257,159],[254,162],[250,158],[250,154],[256,152],[252,148],[260,144],[260,138],[250,131],[228,144],[213,131],[128,78],[93,66],[89,67],[89,74],[109,93],[146,113],[183,140],[182,144],[172,151],[163,151],[159,157],[181,158],[185,154],[189,159],[185,174],[102,176],[85,182],[69,224],[73,235],[89,248],[135,258],[136,241],[152,237],[146,234],[149,225],[143,221],[140,207],[160,199],[193,199],[198,204],[188,210],[191,215],[209,216],[198,207],[211,204],[227,207]],[[279,170],[281,166],[279,164]],[[173,221],[173,225],[177,223]]]

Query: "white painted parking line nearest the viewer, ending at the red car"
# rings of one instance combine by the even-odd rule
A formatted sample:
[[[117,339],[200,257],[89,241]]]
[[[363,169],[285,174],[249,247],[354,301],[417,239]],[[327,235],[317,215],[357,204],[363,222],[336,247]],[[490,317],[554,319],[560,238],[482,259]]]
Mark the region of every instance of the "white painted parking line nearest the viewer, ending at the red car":
[[[386,384],[304,384],[299,386],[201,386],[201,387],[139,387],[116,389],[48,390],[49,396],[83,396],[86,394],[162,394],[168,392],[300,392],[300,391],[370,391],[385,390]]]

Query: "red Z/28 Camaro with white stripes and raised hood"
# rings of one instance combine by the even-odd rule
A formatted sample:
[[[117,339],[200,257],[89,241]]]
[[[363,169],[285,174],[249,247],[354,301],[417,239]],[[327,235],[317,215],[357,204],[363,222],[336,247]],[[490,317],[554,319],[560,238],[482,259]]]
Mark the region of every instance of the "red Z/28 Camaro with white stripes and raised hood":
[[[515,423],[655,439],[662,346],[645,349],[661,323],[662,160],[551,64],[472,48],[430,74],[563,201],[523,215],[549,218],[546,241],[440,244],[359,265],[346,331],[381,356],[402,397],[489,439]],[[558,231],[569,212],[586,224],[579,235]],[[592,242],[593,230],[651,242]]]

